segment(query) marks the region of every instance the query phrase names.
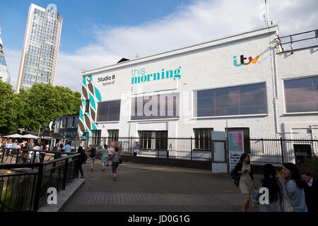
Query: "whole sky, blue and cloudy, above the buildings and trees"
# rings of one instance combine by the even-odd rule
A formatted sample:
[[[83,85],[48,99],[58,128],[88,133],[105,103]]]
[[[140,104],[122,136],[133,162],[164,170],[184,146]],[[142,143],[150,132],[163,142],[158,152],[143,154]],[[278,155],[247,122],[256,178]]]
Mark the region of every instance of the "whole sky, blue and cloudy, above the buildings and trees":
[[[317,0],[268,0],[279,35],[318,29]],[[54,85],[81,92],[81,70],[147,57],[264,28],[264,0],[0,0],[1,38],[11,85],[30,4],[56,4],[63,17]]]

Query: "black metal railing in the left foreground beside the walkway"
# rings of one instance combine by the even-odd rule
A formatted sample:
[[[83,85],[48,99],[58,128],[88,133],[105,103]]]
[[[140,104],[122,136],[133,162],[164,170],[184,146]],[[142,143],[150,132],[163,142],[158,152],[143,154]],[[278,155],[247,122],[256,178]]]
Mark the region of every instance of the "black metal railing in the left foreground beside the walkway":
[[[65,155],[42,163],[0,165],[0,212],[37,211],[47,203],[47,189],[65,189],[78,177],[80,154]]]

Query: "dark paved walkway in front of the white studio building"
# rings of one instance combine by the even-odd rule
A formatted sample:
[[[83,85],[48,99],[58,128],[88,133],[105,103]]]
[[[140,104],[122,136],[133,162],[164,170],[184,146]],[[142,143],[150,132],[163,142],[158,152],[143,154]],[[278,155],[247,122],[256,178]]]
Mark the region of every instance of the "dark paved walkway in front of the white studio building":
[[[201,169],[139,165],[126,162],[102,172],[83,165],[86,182],[64,208],[65,212],[240,211],[243,196],[227,174]]]

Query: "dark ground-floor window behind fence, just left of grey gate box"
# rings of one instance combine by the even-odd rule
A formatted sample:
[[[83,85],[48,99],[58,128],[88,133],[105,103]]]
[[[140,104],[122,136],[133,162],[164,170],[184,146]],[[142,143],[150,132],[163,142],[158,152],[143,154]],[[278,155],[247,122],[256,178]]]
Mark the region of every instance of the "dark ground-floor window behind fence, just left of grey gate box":
[[[211,136],[213,128],[201,128],[194,130],[194,148],[197,150],[211,150]]]

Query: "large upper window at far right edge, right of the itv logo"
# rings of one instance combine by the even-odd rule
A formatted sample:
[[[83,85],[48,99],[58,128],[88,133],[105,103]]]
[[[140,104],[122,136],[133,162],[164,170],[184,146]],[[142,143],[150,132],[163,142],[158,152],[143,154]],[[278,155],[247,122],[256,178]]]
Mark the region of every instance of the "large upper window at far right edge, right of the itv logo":
[[[287,113],[318,111],[318,76],[284,81]]]

